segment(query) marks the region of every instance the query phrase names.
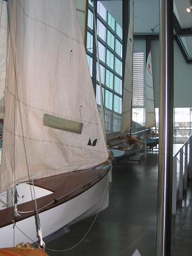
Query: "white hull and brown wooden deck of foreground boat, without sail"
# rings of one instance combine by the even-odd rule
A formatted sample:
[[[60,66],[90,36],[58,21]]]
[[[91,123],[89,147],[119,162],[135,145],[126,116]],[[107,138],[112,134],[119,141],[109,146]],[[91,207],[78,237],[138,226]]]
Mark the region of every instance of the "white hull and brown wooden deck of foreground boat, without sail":
[[[34,180],[35,186],[38,187],[36,202],[44,237],[108,206],[110,170],[111,166],[106,166],[105,168],[63,173]],[[18,188],[20,196],[22,195],[20,192],[23,190],[26,191],[26,188]],[[47,195],[42,196],[42,190]],[[104,193],[106,194],[104,195]],[[20,216],[15,217],[14,207],[0,211],[0,237],[4,234],[12,234],[14,221],[24,234],[29,236],[32,241],[36,241],[36,227],[33,217],[35,215],[34,200],[19,204],[18,212]],[[17,234],[15,244],[20,243],[20,241],[28,242],[28,237],[24,236],[17,227],[15,227]],[[4,237],[3,240],[0,240],[0,247],[12,246],[12,239],[10,240],[9,236]]]

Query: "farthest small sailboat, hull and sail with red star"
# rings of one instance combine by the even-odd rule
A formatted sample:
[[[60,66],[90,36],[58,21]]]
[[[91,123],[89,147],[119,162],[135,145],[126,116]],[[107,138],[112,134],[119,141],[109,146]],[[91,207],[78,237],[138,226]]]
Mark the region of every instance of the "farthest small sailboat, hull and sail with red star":
[[[154,82],[152,72],[152,56],[151,51],[147,56],[145,68],[145,140],[148,147],[155,147],[159,143],[159,136],[156,132],[151,131],[152,127],[156,127],[156,112],[154,102]]]

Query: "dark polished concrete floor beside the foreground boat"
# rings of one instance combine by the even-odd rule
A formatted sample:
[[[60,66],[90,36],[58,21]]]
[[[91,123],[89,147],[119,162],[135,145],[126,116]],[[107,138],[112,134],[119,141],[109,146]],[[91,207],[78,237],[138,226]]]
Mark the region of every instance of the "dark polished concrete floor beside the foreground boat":
[[[131,256],[138,249],[141,256],[156,255],[157,158],[148,152],[140,156],[141,164],[122,161],[113,164],[108,209],[100,212],[88,236],[76,248],[49,255],[68,256]],[[192,186],[186,200],[173,217],[173,256],[192,255]],[[63,250],[77,244],[84,236],[93,217],[70,227],[65,236],[47,244]],[[191,238],[191,241],[190,241]],[[186,254],[185,254],[186,253]]]

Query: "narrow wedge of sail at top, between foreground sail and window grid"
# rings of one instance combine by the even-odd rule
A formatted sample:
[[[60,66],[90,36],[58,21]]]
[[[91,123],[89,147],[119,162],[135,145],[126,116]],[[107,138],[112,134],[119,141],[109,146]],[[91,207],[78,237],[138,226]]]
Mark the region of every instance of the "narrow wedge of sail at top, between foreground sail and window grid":
[[[76,4],[76,10],[77,10],[77,15],[78,15],[78,19],[79,19],[79,24],[80,24],[80,28],[81,28],[81,34],[83,37],[83,42],[85,42],[86,40],[86,0],[75,0],[75,4]]]

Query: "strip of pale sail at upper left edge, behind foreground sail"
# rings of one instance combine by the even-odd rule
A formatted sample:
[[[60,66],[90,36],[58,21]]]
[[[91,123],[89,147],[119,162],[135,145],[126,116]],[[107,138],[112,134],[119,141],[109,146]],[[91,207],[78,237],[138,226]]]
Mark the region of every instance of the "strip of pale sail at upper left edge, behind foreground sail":
[[[0,118],[4,117],[4,86],[8,47],[8,19],[6,1],[0,0]]]

